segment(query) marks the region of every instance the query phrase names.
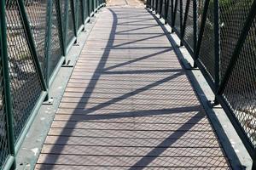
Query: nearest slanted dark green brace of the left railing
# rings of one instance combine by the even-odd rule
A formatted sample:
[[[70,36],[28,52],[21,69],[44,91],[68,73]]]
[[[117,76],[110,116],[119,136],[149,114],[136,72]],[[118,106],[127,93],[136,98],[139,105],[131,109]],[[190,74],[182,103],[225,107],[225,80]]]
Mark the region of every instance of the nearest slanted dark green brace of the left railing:
[[[20,9],[21,20],[22,20],[23,26],[25,28],[29,49],[30,49],[30,52],[32,54],[32,58],[33,58],[33,61],[35,63],[36,69],[38,71],[38,76],[40,78],[42,88],[43,88],[44,91],[47,91],[48,89],[47,89],[46,82],[45,82],[45,79],[44,79],[44,74],[43,74],[39,59],[38,59],[38,53],[37,53],[36,45],[35,45],[35,42],[33,40],[30,24],[29,24],[29,21],[28,21],[27,16],[26,16],[26,9],[25,9],[25,6],[24,6],[24,1],[23,0],[17,0],[17,3],[18,3],[18,6],[19,6],[19,9]]]

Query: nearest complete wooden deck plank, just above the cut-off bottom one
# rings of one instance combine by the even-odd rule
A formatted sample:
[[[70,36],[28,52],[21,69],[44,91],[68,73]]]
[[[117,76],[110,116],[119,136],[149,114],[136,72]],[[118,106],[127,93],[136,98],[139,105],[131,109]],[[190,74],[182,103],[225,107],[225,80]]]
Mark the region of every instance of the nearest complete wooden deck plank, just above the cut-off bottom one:
[[[228,167],[224,157],[72,156],[41,154],[38,163],[125,167]],[[164,166],[166,165],[166,166]]]

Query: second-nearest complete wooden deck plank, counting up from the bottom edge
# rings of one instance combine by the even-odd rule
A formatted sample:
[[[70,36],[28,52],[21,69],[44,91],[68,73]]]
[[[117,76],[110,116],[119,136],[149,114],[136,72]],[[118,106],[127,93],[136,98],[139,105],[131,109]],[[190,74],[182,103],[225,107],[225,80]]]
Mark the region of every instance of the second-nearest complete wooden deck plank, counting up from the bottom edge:
[[[79,156],[212,156],[222,157],[221,148],[166,148],[162,153],[158,153],[152,147],[117,147],[117,146],[83,146],[83,145],[54,145],[44,144],[42,153],[44,154],[65,154]],[[160,149],[160,148],[159,148]]]

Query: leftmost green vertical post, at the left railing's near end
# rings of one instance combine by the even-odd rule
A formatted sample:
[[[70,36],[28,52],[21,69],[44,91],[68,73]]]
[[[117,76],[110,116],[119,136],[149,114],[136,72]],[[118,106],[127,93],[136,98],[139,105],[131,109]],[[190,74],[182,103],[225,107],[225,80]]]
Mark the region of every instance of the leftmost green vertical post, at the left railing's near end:
[[[15,137],[14,137],[14,115],[12,111],[12,98],[10,90],[10,77],[9,77],[9,61],[8,61],[8,45],[7,45],[7,28],[5,18],[5,0],[0,2],[0,40],[1,40],[1,53],[3,65],[3,89],[5,99],[5,111],[7,115],[7,131],[9,139],[9,151],[11,156],[15,157]],[[15,169],[16,163],[14,161],[12,169]]]

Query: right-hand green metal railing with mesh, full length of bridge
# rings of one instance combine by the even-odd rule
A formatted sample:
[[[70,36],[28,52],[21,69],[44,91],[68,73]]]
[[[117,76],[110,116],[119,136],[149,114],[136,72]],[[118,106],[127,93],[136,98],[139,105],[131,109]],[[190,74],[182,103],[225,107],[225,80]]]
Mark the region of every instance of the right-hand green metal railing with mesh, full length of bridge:
[[[188,49],[256,161],[256,0],[148,0]]]

